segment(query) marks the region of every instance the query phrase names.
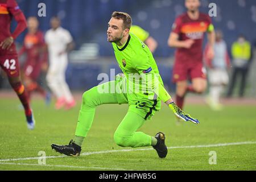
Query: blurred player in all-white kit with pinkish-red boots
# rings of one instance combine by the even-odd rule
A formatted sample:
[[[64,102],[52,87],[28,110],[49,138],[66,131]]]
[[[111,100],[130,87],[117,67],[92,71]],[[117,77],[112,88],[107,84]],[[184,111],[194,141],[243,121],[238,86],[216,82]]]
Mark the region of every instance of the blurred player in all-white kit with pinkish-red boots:
[[[45,36],[49,52],[46,80],[52,93],[57,97],[55,108],[65,106],[65,109],[71,109],[76,102],[65,81],[65,71],[68,65],[68,52],[74,47],[73,39],[69,31],[60,26],[59,18],[51,18],[51,27]]]

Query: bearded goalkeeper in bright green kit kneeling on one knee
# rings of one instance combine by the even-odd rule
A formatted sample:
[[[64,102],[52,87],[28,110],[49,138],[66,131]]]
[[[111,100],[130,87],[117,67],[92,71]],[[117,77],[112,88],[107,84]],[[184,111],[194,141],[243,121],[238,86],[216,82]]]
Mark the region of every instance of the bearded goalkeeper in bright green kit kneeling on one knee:
[[[95,86],[82,95],[75,139],[65,146],[52,144],[51,147],[57,152],[69,156],[80,155],[82,142],[92,126],[96,107],[102,104],[129,105],[127,114],[114,133],[114,141],[118,146],[152,146],[159,158],[165,158],[168,152],[164,134],[159,132],[151,137],[137,130],[160,110],[161,101],[177,117],[199,123],[172,101],[164,89],[152,53],[137,36],[129,32],[131,22],[131,16],[127,13],[115,11],[112,14],[108,23],[108,42],[112,43],[115,58],[124,74],[119,74],[114,81]]]

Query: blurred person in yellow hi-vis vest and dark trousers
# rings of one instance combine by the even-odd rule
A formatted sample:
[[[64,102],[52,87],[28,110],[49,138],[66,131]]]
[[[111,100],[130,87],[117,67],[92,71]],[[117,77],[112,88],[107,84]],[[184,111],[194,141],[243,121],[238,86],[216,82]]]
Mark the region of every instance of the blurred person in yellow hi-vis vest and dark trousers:
[[[239,96],[243,97],[246,86],[246,77],[249,71],[250,62],[252,60],[251,45],[249,42],[247,42],[245,36],[238,36],[237,41],[232,44],[232,57],[233,72],[227,97],[232,97],[234,85],[237,82],[238,75],[241,75],[242,77]]]

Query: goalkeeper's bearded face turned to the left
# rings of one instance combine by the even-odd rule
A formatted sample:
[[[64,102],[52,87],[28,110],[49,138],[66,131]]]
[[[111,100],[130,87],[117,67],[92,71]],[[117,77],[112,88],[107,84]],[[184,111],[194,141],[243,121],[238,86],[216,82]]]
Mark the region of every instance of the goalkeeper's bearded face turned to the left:
[[[123,28],[123,20],[122,19],[110,19],[108,23],[108,42],[117,43],[122,40],[123,36],[127,34],[127,29]],[[129,34],[129,31],[128,31]]]

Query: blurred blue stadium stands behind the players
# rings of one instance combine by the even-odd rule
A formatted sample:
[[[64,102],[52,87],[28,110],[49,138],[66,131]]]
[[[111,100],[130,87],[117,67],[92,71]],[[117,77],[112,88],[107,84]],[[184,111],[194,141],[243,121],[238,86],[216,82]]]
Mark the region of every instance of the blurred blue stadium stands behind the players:
[[[112,45],[106,41],[106,28],[113,11],[126,11],[131,14],[133,24],[147,30],[158,42],[154,56],[159,65],[164,84],[173,92],[175,85],[171,82],[174,48],[167,45],[175,17],[184,13],[184,1],[180,0],[18,0],[20,9],[26,17],[38,15],[38,4],[46,4],[46,17],[40,17],[40,29],[49,29],[49,20],[57,15],[62,26],[67,28],[76,43],[75,51],[69,55],[67,81],[73,90],[88,90],[99,82],[99,73],[121,72],[115,63]],[[252,47],[256,44],[256,1],[254,0],[201,0],[200,10],[208,13],[209,3],[216,3],[217,16],[212,17],[215,29],[224,32],[224,40],[230,47],[243,34]],[[15,23],[13,23],[13,27]],[[16,40],[22,43],[26,31]],[[206,39],[205,39],[206,40]],[[205,42],[205,41],[204,41]],[[23,57],[20,58],[22,64]],[[247,96],[256,96],[255,61],[251,65]],[[44,83],[44,79],[42,78]],[[9,88],[6,81],[3,88]]]

